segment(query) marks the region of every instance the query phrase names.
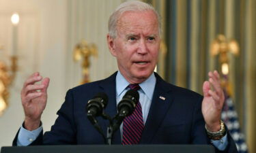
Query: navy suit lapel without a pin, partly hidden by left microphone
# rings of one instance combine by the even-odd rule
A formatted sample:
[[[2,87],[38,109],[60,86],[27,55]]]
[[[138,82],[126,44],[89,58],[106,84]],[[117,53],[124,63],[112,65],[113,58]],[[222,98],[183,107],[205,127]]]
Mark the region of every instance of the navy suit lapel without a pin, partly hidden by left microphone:
[[[109,97],[109,103],[106,106],[104,112],[111,116],[115,116],[117,114],[117,102],[116,102],[116,88],[115,88],[115,78],[117,72],[113,73],[109,78],[102,80],[100,83],[100,88],[104,90],[106,95]],[[109,126],[109,120],[104,120],[104,132],[106,134],[106,128]],[[115,134],[113,135],[113,144],[121,144],[121,135],[120,130],[118,129]]]

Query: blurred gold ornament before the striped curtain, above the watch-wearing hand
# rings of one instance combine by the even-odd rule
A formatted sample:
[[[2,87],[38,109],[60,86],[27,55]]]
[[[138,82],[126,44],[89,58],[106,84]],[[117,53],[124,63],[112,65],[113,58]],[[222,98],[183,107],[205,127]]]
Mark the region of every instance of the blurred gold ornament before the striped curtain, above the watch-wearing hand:
[[[227,75],[229,74],[229,58],[228,53],[234,54],[235,56],[239,55],[239,45],[238,42],[234,39],[227,40],[225,35],[218,35],[216,39],[211,44],[211,54],[212,56],[218,56],[218,61],[221,63],[221,73],[224,76],[221,84],[223,88],[226,89],[229,95],[231,95],[231,87],[227,82]]]

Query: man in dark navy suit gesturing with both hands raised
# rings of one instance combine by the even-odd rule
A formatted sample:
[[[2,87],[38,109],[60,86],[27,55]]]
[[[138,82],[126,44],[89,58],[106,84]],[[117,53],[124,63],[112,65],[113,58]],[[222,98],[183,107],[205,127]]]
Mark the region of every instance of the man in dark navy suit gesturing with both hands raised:
[[[158,14],[152,6],[140,1],[119,5],[109,19],[107,41],[111,54],[117,58],[119,71],[105,80],[68,90],[55,124],[44,135],[40,118],[46,105],[49,79],[34,73],[25,81],[21,92],[25,122],[14,139],[14,145],[102,144],[104,139],[86,117],[87,101],[98,92],[105,92],[109,97],[105,112],[114,116],[126,91],[137,86],[139,103],[134,113],[124,119],[113,143],[212,143],[217,152],[237,152],[233,139],[221,122],[224,94],[217,71],[210,72],[210,79],[204,82],[203,97],[168,84],[154,73],[160,26]],[[39,81],[41,84],[35,84]],[[101,118],[98,121],[106,133],[108,122]]]

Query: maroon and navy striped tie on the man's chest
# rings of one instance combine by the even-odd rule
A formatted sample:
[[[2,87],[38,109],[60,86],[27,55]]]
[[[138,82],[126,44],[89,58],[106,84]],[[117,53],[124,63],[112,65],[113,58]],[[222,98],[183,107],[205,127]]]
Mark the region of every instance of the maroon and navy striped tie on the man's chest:
[[[139,84],[130,84],[130,89],[139,90],[141,88]],[[142,131],[144,128],[143,124],[143,116],[142,116],[142,109],[141,103],[138,102],[134,112],[124,118],[123,121],[123,145],[132,145],[138,144],[141,140]]]

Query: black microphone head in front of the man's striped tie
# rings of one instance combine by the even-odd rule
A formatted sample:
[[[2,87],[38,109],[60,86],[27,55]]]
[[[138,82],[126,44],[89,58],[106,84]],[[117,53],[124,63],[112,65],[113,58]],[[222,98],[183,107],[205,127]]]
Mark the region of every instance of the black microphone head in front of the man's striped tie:
[[[126,92],[123,99],[118,103],[117,116],[124,119],[129,116],[134,111],[137,103],[139,101],[139,92],[137,90],[131,89]]]

